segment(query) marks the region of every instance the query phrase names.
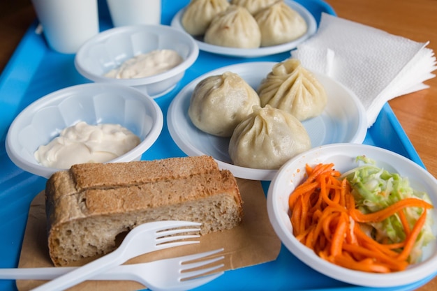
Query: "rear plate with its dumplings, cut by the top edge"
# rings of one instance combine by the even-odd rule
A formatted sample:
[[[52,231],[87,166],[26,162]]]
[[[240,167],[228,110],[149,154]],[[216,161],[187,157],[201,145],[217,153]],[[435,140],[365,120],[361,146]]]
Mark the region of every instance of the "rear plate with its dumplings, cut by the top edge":
[[[313,15],[291,0],[191,0],[170,25],[200,50],[232,57],[287,52],[317,31]]]

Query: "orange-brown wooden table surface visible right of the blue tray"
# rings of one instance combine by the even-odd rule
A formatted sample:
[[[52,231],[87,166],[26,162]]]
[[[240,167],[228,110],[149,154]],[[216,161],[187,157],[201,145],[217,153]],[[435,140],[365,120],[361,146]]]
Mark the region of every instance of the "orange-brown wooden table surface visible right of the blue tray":
[[[437,52],[437,2],[434,0],[327,0],[337,16],[383,29]],[[437,72],[436,72],[437,73]],[[390,106],[427,170],[437,177],[437,78],[429,89],[390,100]],[[437,290],[437,277],[420,291]]]

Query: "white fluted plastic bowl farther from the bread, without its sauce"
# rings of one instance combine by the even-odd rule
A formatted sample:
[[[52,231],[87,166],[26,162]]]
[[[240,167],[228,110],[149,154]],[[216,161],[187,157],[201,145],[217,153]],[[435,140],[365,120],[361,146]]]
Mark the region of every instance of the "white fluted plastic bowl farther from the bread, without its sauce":
[[[182,64],[150,77],[115,79],[104,76],[138,54],[165,49],[175,50],[184,59]],[[108,29],[87,40],[77,51],[75,67],[91,81],[135,87],[156,98],[175,87],[198,54],[197,43],[184,31],[165,25],[134,25]]]

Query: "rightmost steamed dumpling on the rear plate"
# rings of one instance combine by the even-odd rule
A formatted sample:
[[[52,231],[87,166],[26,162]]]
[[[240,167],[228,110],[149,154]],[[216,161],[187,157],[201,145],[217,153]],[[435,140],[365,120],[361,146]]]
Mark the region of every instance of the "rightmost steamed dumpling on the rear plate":
[[[255,15],[261,30],[261,46],[281,45],[303,36],[304,18],[283,1],[278,1]]]

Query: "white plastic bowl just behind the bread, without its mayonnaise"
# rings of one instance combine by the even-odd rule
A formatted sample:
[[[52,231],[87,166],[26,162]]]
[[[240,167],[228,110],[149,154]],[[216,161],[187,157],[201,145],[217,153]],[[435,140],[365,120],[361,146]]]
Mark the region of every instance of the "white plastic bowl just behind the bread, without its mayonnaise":
[[[140,137],[140,144],[109,162],[140,160],[163,128],[163,113],[149,96],[117,84],[80,84],[36,100],[15,117],[6,135],[6,152],[22,170],[50,177],[61,169],[40,165],[34,152],[78,121],[120,124]]]

